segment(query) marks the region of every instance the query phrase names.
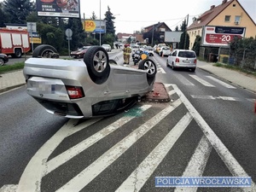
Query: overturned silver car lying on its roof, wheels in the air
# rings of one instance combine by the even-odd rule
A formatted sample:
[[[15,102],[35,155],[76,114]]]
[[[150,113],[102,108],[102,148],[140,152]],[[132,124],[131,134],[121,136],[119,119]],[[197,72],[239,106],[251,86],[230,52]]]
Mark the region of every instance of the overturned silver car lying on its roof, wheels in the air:
[[[34,53],[23,70],[26,91],[52,114],[79,119],[123,112],[154,88],[149,59],[138,68],[120,66],[101,46],[91,46],[83,61],[44,58],[55,53],[49,45]]]

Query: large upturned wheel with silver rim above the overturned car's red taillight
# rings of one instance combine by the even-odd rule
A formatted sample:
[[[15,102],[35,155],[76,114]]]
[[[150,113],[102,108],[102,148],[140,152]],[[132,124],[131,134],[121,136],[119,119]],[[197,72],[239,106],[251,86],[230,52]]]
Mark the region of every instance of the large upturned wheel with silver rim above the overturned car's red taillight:
[[[104,83],[109,76],[108,52],[101,46],[91,46],[84,54],[84,63],[90,79],[96,84]]]

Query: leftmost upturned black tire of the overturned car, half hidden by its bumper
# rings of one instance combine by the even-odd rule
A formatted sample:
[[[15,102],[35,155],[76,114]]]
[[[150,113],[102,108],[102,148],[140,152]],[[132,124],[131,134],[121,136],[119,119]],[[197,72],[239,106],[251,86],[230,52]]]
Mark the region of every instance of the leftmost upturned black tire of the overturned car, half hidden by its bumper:
[[[58,51],[49,44],[41,44],[36,49],[34,49],[32,57],[44,57],[51,58],[51,55],[58,53]]]

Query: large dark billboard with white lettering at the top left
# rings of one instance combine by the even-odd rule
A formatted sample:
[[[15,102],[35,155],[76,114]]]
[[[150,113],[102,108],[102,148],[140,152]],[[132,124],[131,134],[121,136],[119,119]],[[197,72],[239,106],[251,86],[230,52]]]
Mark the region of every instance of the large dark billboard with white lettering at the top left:
[[[38,16],[80,17],[80,0],[37,0]]]

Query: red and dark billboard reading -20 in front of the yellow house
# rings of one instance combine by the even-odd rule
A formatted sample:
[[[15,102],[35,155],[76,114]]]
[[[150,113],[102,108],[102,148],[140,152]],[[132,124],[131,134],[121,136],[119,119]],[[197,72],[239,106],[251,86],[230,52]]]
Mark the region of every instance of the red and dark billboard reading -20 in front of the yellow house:
[[[236,38],[244,38],[245,27],[236,26],[205,26],[202,45],[229,46]]]

